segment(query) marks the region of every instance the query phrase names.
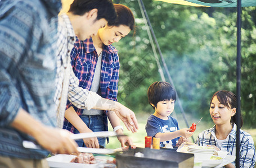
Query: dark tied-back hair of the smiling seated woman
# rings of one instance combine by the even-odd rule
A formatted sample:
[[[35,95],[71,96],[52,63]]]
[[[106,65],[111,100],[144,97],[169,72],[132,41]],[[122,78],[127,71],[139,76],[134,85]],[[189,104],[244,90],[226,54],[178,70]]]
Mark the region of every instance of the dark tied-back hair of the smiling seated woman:
[[[214,96],[217,96],[218,101],[221,102],[221,104],[223,104],[227,108],[229,108],[229,109],[236,108],[236,95],[233,94],[231,91],[220,90],[220,91],[215,92],[215,94],[213,94],[213,97]],[[210,104],[213,101],[213,97],[210,100]],[[241,125],[240,125],[240,128],[241,128],[242,124],[243,124],[241,113],[240,113],[240,116],[237,116],[237,113],[235,115],[233,115],[230,119],[230,122],[231,123],[236,123],[236,118],[237,117],[239,117],[240,120],[241,120]]]

